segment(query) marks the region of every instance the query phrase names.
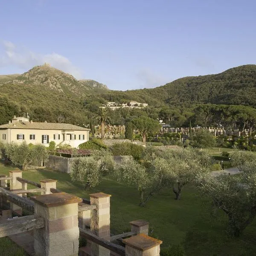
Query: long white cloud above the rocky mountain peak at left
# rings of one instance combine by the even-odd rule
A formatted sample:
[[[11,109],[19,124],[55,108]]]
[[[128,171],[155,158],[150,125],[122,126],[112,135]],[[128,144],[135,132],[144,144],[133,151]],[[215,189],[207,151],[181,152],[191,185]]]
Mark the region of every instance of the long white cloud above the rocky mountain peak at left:
[[[0,67],[15,66],[26,71],[36,65],[42,65],[46,62],[55,68],[70,73],[77,79],[81,79],[79,68],[75,67],[68,58],[58,53],[40,54],[29,51],[25,47],[17,47],[9,41],[3,41],[2,47],[3,55],[0,56]]]

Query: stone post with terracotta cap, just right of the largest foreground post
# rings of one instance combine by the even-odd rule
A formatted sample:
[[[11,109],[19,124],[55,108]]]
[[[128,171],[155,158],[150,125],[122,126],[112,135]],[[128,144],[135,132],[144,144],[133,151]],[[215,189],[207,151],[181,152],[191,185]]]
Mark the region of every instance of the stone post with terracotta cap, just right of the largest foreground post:
[[[110,197],[105,193],[90,194],[91,204],[96,205],[96,209],[91,210],[91,230],[97,236],[110,241]],[[91,244],[91,256],[109,256],[110,251],[96,243]]]

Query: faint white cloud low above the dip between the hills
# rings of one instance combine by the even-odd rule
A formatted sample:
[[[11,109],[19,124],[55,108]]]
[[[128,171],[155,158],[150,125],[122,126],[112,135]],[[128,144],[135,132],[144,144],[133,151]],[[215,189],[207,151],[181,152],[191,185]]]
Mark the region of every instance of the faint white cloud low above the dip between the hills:
[[[154,88],[164,85],[168,82],[168,79],[164,78],[163,76],[157,75],[156,73],[148,69],[140,70],[136,74],[136,77],[141,82],[141,88]]]

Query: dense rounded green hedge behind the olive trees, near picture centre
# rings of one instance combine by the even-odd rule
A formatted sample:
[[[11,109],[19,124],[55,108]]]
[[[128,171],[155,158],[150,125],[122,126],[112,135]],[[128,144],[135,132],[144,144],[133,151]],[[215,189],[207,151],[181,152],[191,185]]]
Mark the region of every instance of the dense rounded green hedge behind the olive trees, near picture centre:
[[[115,143],[111,147],[114,156],[133,156],[135,160],[140,160],[144,147],[130,142]]]

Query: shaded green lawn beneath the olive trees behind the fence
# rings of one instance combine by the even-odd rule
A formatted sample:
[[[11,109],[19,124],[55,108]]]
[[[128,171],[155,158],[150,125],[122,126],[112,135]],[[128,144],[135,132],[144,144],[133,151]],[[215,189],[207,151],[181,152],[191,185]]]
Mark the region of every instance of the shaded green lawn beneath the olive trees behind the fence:
[[[9,169],[0,163],[0,175],[8,175]],[[33,181],[56,179],[58,189],[83,198],[89,198],[94,192],[111,194],[111,233],[122,233],[129,229],[129,221],[144,219],[150,222],[154,234],[163,240],[163,246],[181,244],[187,256],[256,255],[256,221],[240,238],[228,237],[226,216],[222,212],[212,216],[208,200],[200,198],[193,186],[184,187],[181,201],[175,201],[172,192],[165,190],[154,196],[147,207],[141,208],[138,192],[133,186],[111,179],[104,179],[98,187],[85,192],[81,184],[73,183],[68,174],[60,172],[29,170],[23,172],[23,177]],[[2,241],[0,239],[0,247]]]

